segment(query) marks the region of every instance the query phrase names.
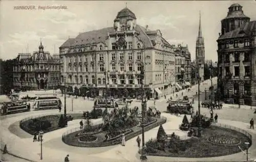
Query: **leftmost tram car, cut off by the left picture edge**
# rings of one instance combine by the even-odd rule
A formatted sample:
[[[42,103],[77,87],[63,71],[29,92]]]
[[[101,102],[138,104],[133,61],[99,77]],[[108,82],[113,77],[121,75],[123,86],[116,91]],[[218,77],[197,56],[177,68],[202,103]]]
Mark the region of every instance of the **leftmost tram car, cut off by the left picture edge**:
[[[27,103],[26,100],[3,102],[2,104],[3,104],[1,107],[2,115],[30,111],[30,105]]]

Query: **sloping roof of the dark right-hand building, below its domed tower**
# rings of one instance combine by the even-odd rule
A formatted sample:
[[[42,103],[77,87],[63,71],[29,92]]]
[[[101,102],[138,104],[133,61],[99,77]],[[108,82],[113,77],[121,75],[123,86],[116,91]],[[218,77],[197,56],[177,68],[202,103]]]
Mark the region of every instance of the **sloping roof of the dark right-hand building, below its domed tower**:
[[[240,28],[221,35],[217,41],[229,38],[248,37],[252,35],[255,29],[256,21],[246,22]]]

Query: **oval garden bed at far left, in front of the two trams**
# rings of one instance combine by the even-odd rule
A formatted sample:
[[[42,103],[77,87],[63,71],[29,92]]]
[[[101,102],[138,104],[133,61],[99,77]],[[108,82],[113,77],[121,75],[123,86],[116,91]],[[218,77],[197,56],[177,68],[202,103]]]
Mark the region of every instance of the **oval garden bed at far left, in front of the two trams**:
[[[21,121],[19,123],[19,126],[24,131],[30,133],[31,135],[33,135],[36,131],[39,131],[40,127],[45,133],[47,133],[47,132],[54,131],[61,128],[58,126],[60,116],[61,114],[31,118],[26,121]],[[69,116],[72,116],[73,120],[83,119],[82,114],[67,114],[67,117]],[[40,126],[41,123],[42,123],[42,126]]]

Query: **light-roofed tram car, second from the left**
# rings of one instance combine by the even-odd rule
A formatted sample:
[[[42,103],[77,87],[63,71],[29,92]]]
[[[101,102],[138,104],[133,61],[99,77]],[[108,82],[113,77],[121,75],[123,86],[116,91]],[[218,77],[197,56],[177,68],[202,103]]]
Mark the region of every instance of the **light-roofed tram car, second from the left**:
[[[59,109],[61,100],[57,97],[37,97],[33,103],[34,110]]]

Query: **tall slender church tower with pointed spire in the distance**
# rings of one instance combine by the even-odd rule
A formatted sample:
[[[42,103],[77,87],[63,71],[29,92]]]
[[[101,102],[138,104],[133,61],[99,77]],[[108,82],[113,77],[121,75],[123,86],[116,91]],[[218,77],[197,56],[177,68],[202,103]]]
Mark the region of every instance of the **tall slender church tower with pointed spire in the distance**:
[[[204,80],[204,61],[205,61],[204,38],[202,36],[201,13],[200,13],[198,37],[196,41],[196,62],[197,62],[198,74],[201,77],[201,82],[203,82]]]

